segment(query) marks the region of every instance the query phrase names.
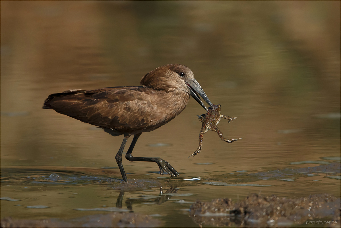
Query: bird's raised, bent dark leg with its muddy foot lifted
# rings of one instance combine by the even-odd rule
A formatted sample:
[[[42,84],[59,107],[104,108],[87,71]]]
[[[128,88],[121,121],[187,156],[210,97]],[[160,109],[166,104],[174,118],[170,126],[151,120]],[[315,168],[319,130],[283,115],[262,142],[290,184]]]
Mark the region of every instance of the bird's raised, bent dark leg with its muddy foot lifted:
[[[162,175],[163,170],[166,171],[166,173],[168,173],[171,177],[175,176],[179,176],[178,172],[176,172],[176,170],[165,160],[161,159],[161,158],[142,158],[142,157],[133,157],[131,155],[131,153],[133,152],[134,146],[136,144],[136,141],[138,139],[138,137],[140,137],[140,134],[136,134],[134,135],[133,138],[133,142],[131,142],[131,145],[128,149],[128,152],[125,155],[125,158],[127,158],[129,161],[152,161],[158,164],[159,168],[160,168],[160,174]]]

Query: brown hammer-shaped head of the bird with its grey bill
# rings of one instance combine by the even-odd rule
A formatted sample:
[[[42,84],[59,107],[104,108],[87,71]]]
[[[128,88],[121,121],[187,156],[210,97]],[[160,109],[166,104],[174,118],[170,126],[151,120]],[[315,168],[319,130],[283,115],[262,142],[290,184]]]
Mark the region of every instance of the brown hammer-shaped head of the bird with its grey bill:
[[[195,80],[193,72],[181,64],[167,64],[147,73],[140,81],[141,85],[166,92],[185,91],[190,94],[205,110],[201,96],[209,106],[213,106],[200,84]]]

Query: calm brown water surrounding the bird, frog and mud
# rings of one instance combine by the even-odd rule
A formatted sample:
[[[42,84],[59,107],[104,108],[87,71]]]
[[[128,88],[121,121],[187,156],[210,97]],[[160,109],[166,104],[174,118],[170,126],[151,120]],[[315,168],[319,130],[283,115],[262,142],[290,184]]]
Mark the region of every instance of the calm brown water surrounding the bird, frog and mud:
[[[123,210],[197,227],[188,216],[197,199],[340,197],[339,2],[1,6],[1,219],[78,224]],[[154,163],[123,160],[132,184],[122,183],[121,136],[41,109],[51,93],[138,85],[168,63],[192,69],[222,114],[237,117],[220,121],[224,136],[242,138],[208,132],[188,158],[205,112],[191,99],[133,151],[168,161],[180,173],[169,182]]]

